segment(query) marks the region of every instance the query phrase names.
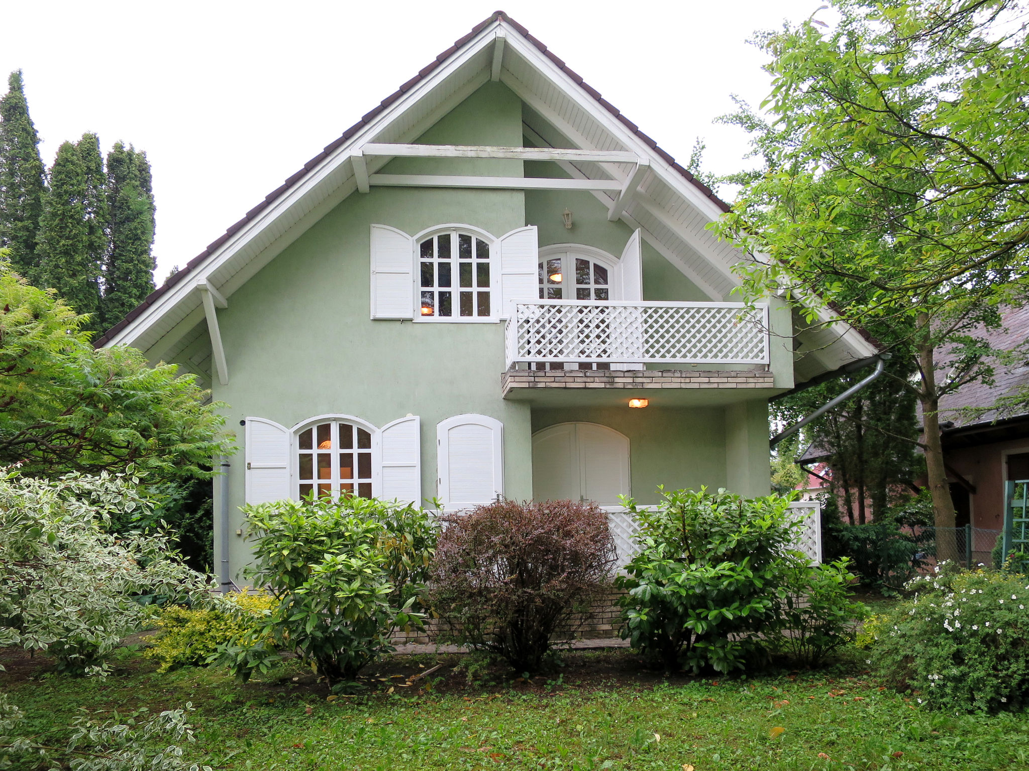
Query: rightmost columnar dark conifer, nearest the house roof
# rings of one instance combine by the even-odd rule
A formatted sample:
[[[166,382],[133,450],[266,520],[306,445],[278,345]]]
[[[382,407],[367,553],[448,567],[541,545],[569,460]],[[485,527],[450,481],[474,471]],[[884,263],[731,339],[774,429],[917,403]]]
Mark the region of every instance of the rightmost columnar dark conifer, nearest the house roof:
[[[120,142],[107,154],[110,252],[107,256],[104,325],[111,327],[153,291],[154,207],[146,153]]]

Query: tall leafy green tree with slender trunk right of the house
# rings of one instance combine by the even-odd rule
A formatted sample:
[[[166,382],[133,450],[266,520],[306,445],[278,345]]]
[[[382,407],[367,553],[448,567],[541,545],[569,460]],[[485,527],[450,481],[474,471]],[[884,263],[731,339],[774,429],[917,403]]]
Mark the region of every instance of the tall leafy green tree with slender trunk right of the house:
[[[939,399],[989,381],[982,335],[1029,288],[1029,44],[1018,0],[837,0],[765,35],[773,90],[731,117],[765,164],[715,225],[752,298],[831,302],[913,373],[937,526],[953,527]],[[820,298],[820,299],[816,299]]]

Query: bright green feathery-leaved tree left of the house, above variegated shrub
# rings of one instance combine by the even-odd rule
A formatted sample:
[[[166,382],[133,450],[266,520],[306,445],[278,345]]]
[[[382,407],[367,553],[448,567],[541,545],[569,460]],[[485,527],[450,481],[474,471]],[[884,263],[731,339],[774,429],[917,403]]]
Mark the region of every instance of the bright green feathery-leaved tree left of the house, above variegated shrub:
[[[211,458],[234,451],[223,405],[175,365],[94,348],[84,323],[0,255],[0,467],[52,477],[132,465],[148,485],[211,478]]]

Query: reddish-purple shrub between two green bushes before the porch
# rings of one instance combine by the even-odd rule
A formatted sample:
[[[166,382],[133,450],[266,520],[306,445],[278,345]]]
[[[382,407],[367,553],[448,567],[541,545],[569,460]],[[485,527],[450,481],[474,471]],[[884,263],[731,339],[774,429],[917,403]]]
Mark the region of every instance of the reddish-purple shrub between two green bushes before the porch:
[[[430,579],[450,637],[538,671],[560,629],[610,580],[614,541],[594,504],[500,501],[445,519]]]

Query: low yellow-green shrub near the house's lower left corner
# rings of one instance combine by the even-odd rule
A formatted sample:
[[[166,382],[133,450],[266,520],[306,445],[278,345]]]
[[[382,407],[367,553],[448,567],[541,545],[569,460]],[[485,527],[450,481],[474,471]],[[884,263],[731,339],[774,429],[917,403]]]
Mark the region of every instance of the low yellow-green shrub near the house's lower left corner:
[[[206,664],[219,646],[242,639],[257,627],[274,603],[271,594],[233,592],[212,608],[169,605],[157,617],[161,632],[146,655],[161,661],[162,672]]]

